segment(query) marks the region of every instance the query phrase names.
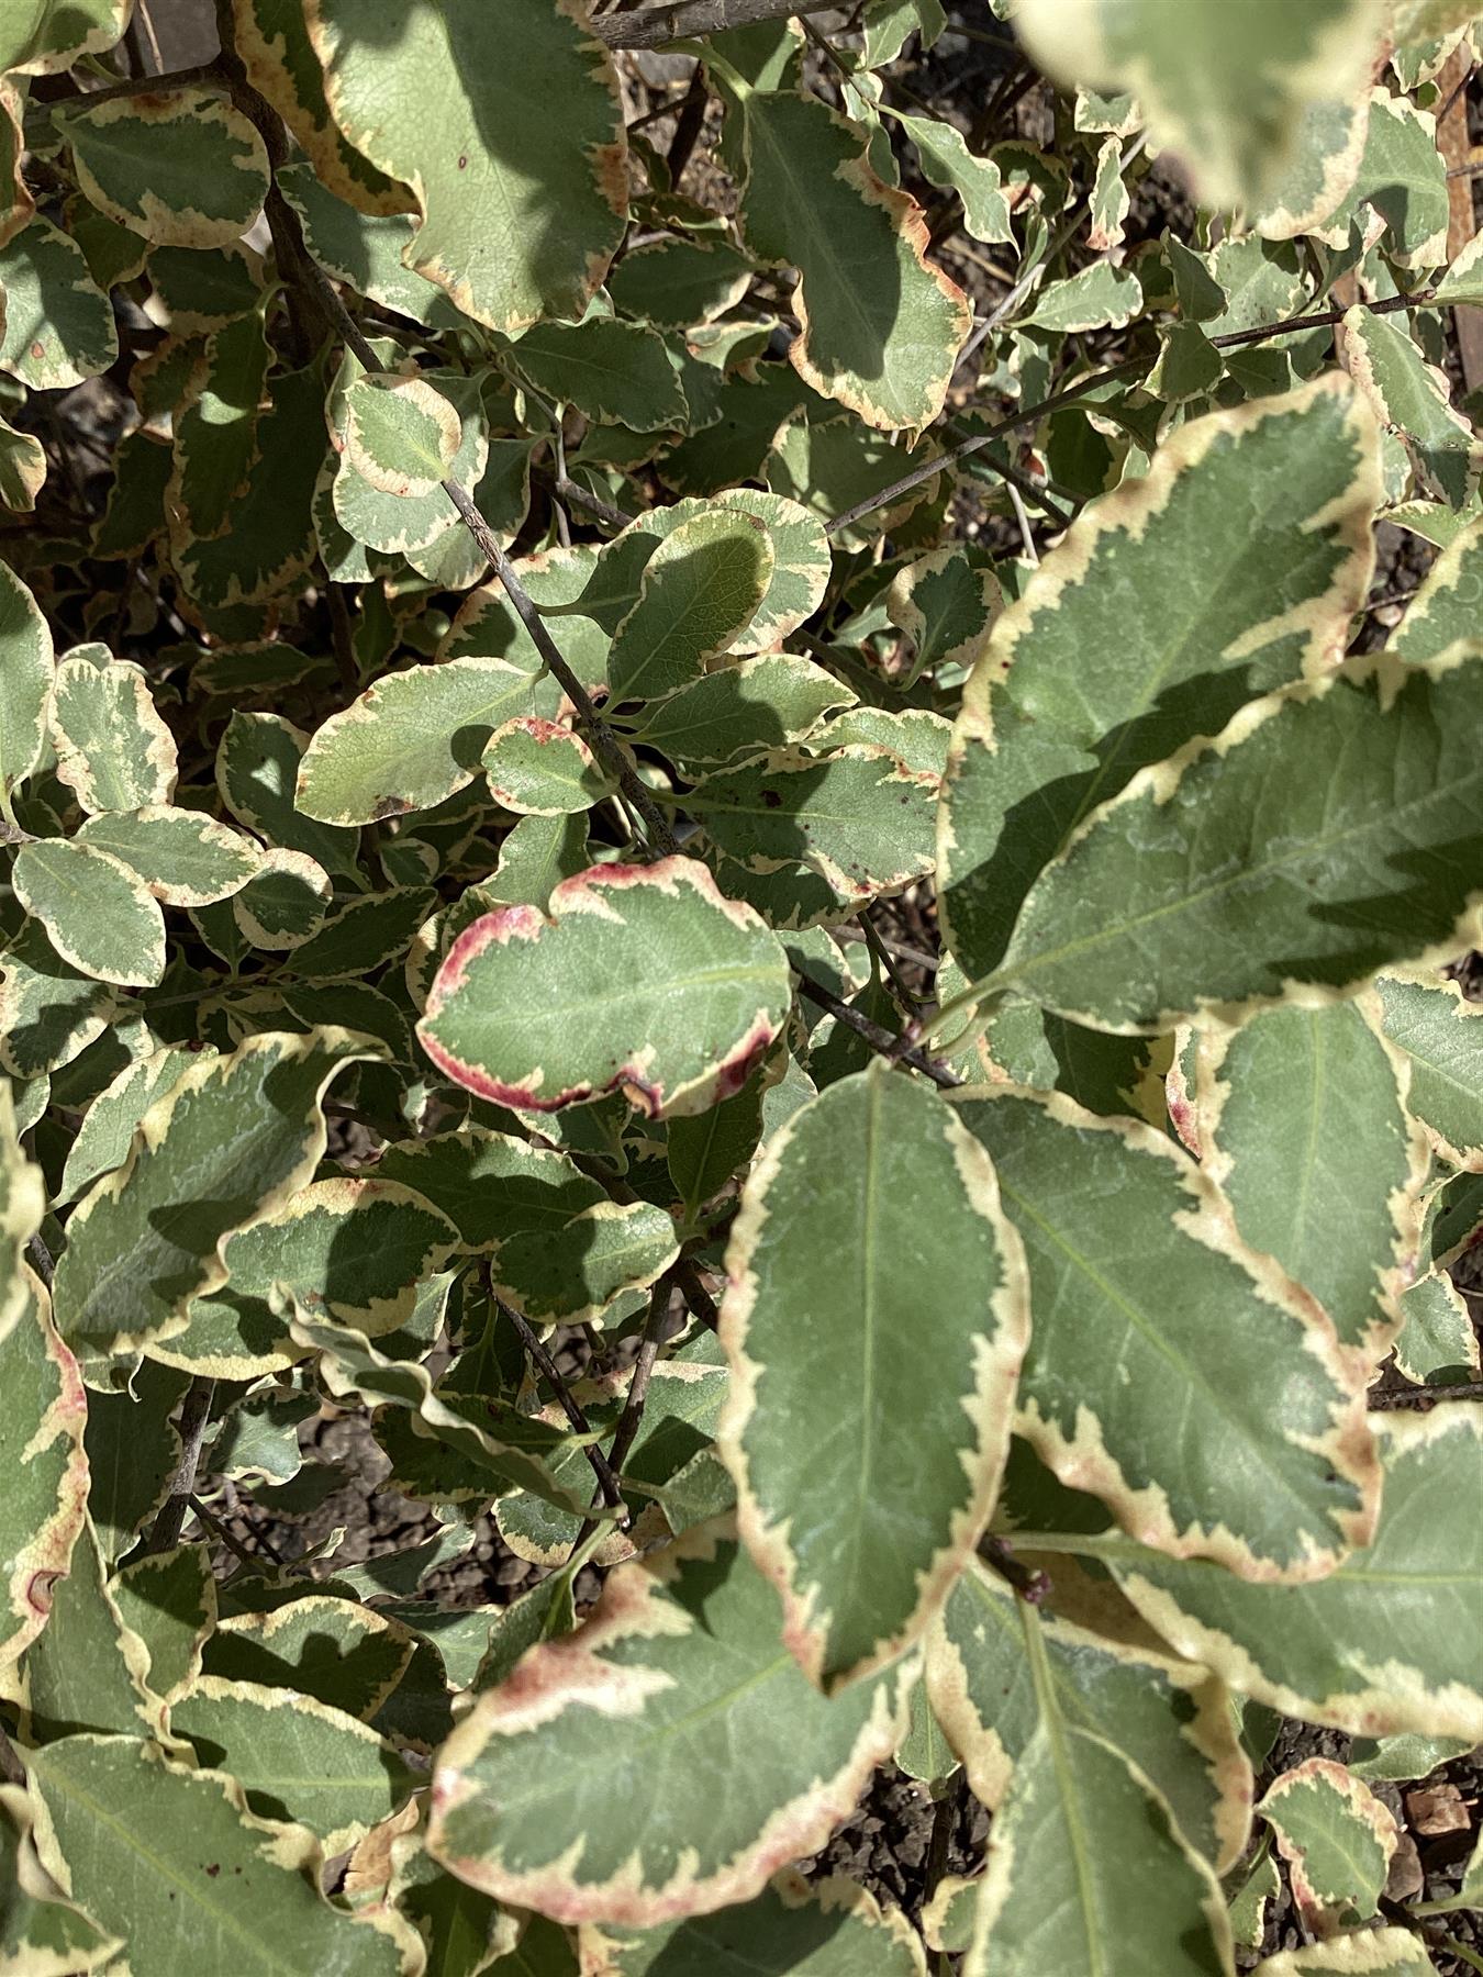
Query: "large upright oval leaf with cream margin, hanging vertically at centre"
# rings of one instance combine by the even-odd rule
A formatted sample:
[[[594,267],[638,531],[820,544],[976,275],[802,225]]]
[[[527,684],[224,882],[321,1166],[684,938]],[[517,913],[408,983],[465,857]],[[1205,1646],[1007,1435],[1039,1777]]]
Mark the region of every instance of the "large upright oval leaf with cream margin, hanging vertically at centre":
[[[769,1141],[726,1273],[742,1536],[783,1591],[785,1643],[834,1690],[917,1639],[989,1518],[1030,1329],[1022,1247],[977,1141],[876,1062]]]

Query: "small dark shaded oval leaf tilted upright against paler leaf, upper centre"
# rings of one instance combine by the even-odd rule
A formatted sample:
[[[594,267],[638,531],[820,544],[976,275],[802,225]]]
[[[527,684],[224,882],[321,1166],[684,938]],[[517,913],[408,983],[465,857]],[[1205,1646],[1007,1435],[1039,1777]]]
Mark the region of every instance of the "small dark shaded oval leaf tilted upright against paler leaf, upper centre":
[[[613,698],[654,700],[698,680],[751,625],[773,567],[767,528],[745,510],[712,508],[664,536],[613,635]]]

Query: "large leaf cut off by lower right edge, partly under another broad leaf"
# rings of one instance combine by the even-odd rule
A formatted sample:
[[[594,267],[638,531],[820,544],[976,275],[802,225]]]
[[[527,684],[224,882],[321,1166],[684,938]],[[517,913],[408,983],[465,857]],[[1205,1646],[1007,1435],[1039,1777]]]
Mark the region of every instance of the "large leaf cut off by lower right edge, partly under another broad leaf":
[[[1271,1708],[1356,1736],[1483,1736],[1467,1615],[1483,1590],[1471,1504],[1483,1419],[1467,1402],[1380,1414],[1384,1504],[1374,1542],[1299,1599],[1208,1560],[1117,1546],[1123,1591],[1180,1653]],[[1030,1542],[1028,1538],[1024,1540]]]

